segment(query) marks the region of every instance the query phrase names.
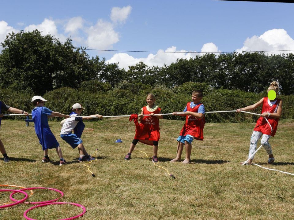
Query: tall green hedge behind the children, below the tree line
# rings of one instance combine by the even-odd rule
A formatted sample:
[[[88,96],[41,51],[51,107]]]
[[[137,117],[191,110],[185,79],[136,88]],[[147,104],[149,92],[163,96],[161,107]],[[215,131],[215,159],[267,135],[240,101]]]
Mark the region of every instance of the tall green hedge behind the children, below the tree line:
[[[101,114],[103,116],[112,115],[130,115],[140,113],[141,108],[146,105],[146,96],[153,93],[156,96],[156,103],[162,108],[162,113],[183,111],[188,101],[191,101],[191,91],[202,89],[204,96],[202,103],[205,105],[205,111],[227,111],[236,110],[247,105],[252,105],[262,97],[266,92],[255,94],[243,92],[241,90],[212,89],[205,83],[187,82],[174,89],[169,89],[164,85],[157,84],[153,88],[146,87],[140,83],[121,82],[116,88],[109,90],[108,84],[99,84],[100,91],[90,87],[72,89],[63,87],[47,92],[43,97],[48,100],[46,107],[53,111],[69,114],[71,106],[74,103],[81,103],[86,109],[83,115]],[[0,100],[5,104],[15,108],[20,108],[31,112],[33,106],[30,102],[32,96],[26,92],[15,92],[12,90],[0,90]],[[279,95],[283,100],[283,113],[281,119],[294,118],[294,95]],[[261,107],[254,109],[255,113],[261,112]],[[210,113],[206,114],[206,122],[213,123],[240,123],[255,122],[258,116],[243,113]],[[179,116],[165,116],[166,119],[184,120]],[[19,119],[19,118],[17,118]],[[22,118],[23,119],[23,118]],[[58,118],[53,119],[58,120]]]

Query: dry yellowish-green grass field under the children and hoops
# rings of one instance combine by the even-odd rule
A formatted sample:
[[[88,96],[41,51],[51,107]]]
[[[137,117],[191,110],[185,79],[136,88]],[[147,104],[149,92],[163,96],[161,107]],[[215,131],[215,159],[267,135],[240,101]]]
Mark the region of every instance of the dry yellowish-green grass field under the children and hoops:
[[[127,118],[85,122],[85,148],[96,154],[92,177],[85,162],[77,162],[73,150],[60,136],[58,122],[49,122],[68,164],[58,166],[55,150],[49,150],[53,163],[43,164],[42,148],[33,123],[2,120],[0,137],[11,158],[0,161],[0,184],[25,187],[50,187],[61,190],[63,202],[86,207],[78,219],[294,219],[294,177],[257,166],[241,166],[247,159],[254,124],[206,123],[204,141],[193,141],[192,164],[170,163],[176,155],[177,138],[183,121],[160,120],[159,165],[175,175],[168,176],[144,153],[134,151],[124,161],[135,126]],[[265,167],[294,173],[294,119],[280,121],[277,134],[270,139],[274,165],[267,165],[266,151],[260,149],[254,159]],[[116,139],[123,143],[114,143]],[[138,143],[136,149],[152,156],[152,147]],[[183,151],[182,158],[185,155]],[[2,156],[2,155],[1,155]],[[1,187],[1,189],[4,189]],[[8,192],[0,193],[0,203],[9,201]],[[53,191],[34,190],[29,201],[52,200]],[[22,195],[15,198],[21,199]],[[20,204],[0,210],[1,220],[24,219],[32,205]],[[28,213],[35,219],[69,218],[81,212],[69,205],[54,205]]]

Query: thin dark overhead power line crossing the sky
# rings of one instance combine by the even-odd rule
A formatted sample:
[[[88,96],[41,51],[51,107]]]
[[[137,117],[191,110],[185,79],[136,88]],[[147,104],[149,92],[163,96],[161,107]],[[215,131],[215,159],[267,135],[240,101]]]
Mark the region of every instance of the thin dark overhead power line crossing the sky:
[[[81,48],[76,48],[81,50]],[[230,51],[230,52],[183,52],[183,51],[143,51],[143,50],[99,50],[99,49],[83,49],[83,50],[97,50],[97,51],[111,51],[111,52],[139,52],[139,53],[245,53],[245,52],[282,52],[294,50],[261,50],[261,51]]]

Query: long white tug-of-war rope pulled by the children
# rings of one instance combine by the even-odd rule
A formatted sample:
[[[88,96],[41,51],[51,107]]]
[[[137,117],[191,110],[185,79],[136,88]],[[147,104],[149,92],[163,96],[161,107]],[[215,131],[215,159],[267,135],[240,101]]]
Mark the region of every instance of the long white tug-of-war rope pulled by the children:
[[[222,113],[222,112],[236,112],[236,110],[232,110],[232,111],[217,111],[217,112],[205,112],[205,113]],[[240,111],[240,112],[243,112],[243,113],[247,113],[247,114],[251,114],[251,115],[257,115],[257,116],[261,116],[260,114],[257,114],[257,113],[253,113],[253,112],[245,112],[245,111]],[[177,112],[177,115],[181,115],[181,114],[184,114],[184,112]],[[25,114],[8,114],[8,115],[3,115],[3,116],[24,116]],[[32,114],[28,114],[28,115],[32,115]],[[166,113],[166,114],[154,114],[153,116],[161,116],[161,115],[172,115],[172,113]],[[143,115],[143,116],[150,116],[150,115]],[[79,117],[79,118],[98,118],[96,116],[70,116],[70,117]],[[115,117],[130,117],[130,115],[123,115],[123,116],[103,116],[103,118],[115,118]],[[264,117],[264,119],[266,119],[266,117]],[[272,126],[270,125],[269,121],[266,119],[266,122],[268,123],[272,133],[273,133],[273,128]],[[242,165],[245,165],[248,163],[248,161],[250,159],[252,159],[252,157],[256,154],[256,152],[258,152],[258,150],[262,147],[262,145],[260,145],[260,147],[251,155],[251,157],[249,157]],[[258,167],[261,167],[263,169],[266,169],[266,170],[271,170],[271,171],[278,171],[278,172],[281,172],[281,173],[285,173],[285,174],[290,174],[292,176],[294,176],[294,174],[292,173],[288,173],[288,172],[284,172],[284,171],[280,171],[280,170],[275,170],[275,169],[270,169],[270,168],[267,168],[267,167],[262,167],[256,163],[253,163],[253,165],[255,166],[258,166]]]

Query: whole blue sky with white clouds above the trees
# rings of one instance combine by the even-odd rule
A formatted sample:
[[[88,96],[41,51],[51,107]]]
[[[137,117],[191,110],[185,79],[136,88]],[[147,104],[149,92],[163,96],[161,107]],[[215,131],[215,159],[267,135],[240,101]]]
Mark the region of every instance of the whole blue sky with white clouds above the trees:
[[[11,31],[39,29],[127,68],[170,64],[189,52],[294,50],[294,4],[238,1],[3,1],[0,42]],[[272,52],[280,53],[280,52]],[[199,54],[199,53],[198,53]]]

